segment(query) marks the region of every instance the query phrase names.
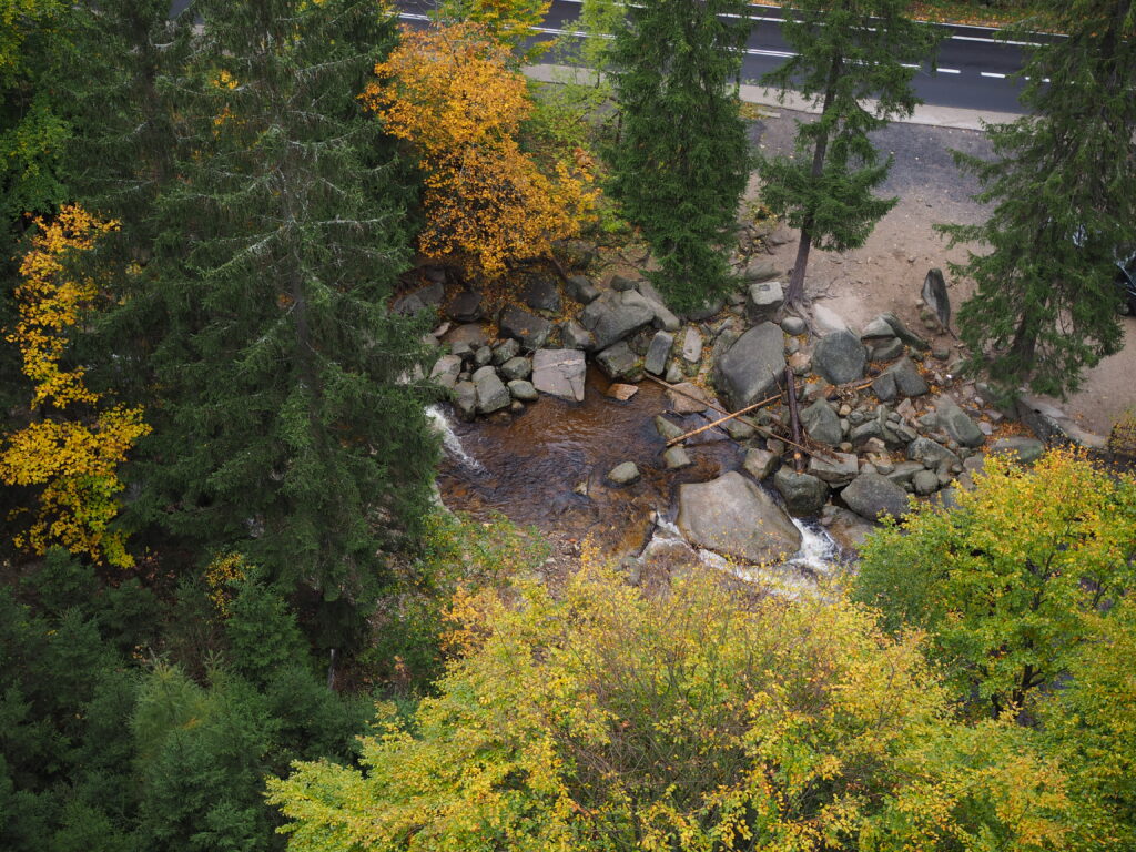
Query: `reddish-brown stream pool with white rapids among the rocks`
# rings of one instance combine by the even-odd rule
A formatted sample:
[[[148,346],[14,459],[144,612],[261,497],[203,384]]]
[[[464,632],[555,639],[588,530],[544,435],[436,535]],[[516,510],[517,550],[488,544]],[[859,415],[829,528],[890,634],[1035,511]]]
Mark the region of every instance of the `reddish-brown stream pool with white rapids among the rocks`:
[[[632,399],[619,401],[607,395],[609,385],[590,367],[583,403],[541,396],[519,415],[474,423],[432,411],[446,449],[438,476],[445,504],[479,517],[500,512],[567,538],[590,536],[602,551],[620,556],[640,551],[652,535],[674,531],[679,537],[670,523],[677,487],[740,469],[744,451],[715,428],[687,444],[693,465],[666,470],[666,443],[654,427],[655,415],[667,408],[663,389],[643,382]],[[687,429],[708,423],[702,415],[668,417]],[[618,487],[605,475],[624,461],[634,461],[643,478]],[[827,571],[830,540],[797,526],[804,540],[794,565]],[[712,560],[712,554],[704,558]]]

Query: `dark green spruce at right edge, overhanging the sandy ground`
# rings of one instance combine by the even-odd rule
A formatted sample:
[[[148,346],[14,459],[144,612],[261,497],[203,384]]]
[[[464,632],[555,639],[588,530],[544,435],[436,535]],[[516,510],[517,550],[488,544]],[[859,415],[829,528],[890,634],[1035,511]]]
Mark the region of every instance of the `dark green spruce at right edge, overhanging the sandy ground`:
[[[949,226],[979,241],[953,267],[977,291],[959,311],[969,366],[1013,395],[1077,390],[1081,373],[1120,349],[1118,253],[1136,249],[1136,7],[1060,5],[1067,37],[1031,49],[1021,102],[1031,115],[987,127],[995,157],[955,153],[994,203],[982,225]],[[1022,39],[1026,40],[1026,39]]]

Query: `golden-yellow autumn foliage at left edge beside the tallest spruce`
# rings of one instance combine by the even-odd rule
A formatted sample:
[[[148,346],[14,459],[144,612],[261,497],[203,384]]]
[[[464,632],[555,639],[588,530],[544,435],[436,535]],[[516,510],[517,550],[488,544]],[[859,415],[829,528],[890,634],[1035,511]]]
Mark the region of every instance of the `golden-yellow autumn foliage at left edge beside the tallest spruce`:
[[[60,544],[126,567],[133,558],[124,536],[108,528],[123,490],[116,469],[150,427],[141,408],[106,404],[86,386],[82,367],[65,366],[68,334],[99,298],[94,281],[68,274],[65,258],[90,250],[118,225],[78,207],[64,207],[53,222],[36,224],[39,233],[19,268],[18,320],[7,334],[19,346],[24,375],[34,385],[33,420],[7,436],[0,481],[41,491],[31,524],[15,542],[35,553]]]

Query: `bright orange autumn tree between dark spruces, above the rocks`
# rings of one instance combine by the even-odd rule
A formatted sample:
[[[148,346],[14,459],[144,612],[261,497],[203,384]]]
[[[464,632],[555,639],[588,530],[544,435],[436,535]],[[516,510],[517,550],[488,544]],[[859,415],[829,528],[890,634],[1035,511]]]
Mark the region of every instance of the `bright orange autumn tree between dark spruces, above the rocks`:
[[[470,23],[406,31],[375,73],[360,99],[425,175],[424,254],[495,277],[579,233],[599,190],[585,159],[537,164],[523,149],[532,103],[508,47]]]

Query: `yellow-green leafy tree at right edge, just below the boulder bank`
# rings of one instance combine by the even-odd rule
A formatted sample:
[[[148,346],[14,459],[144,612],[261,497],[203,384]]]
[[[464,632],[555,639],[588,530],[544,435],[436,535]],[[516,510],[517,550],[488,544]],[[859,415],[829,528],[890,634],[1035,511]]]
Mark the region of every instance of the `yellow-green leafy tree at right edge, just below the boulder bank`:
[[[1056,685],[1131,587],[1136,483],[1053,452],[1033,470],[987,459],[975,486],[874,535],[854,594],[888,629],[926,629],[958,700],[996,716]]]

